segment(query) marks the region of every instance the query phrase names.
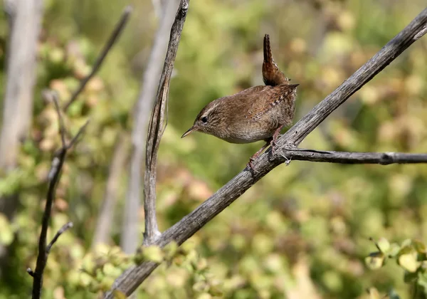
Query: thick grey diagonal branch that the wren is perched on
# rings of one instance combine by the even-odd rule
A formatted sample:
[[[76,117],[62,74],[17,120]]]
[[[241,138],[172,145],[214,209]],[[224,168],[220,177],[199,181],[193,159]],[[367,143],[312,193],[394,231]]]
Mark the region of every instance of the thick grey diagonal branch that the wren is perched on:
[[[243,170],[236,175],[230,182],[225,184],[203,204],[198,206],[194,211],[185,216],[181,221],[174,224],[171,228],[164,231],[162,236],[156,241],[156,245],[165,246],[171,241],[181,244],[190,236],[199,231],[202,226],[208,223],[223,209],[226,209],[241,194],[246,192],[253,184],[265,176],[273,168],[285,162],[286,148],[295,148],[300,142],[312,131],[317,125],[325,120],[327,115],[337,109],[339,105],[345,102],[350,95],[355,93],[371,78],[389,65],[391,61],[399,56],[408,46],[421,38],[420,32],[423,31],[427,24],[427,9],[416,16],[411,23],[404,28],[396,37],[386,44],[376,55],[359,68],[349,79],[345,80],[342,85],[327,96],[320,104],[313,108],[305,117],[297,122],[288,132],[278,140],[278,147],[272,160],[268,159],[270,151],[262,154],[258,159],[257,172],[252,173],[248,169]],[[303,152],[300,150],[300,152]],[[320,154],[319,152],[318,154]],[[145,278],[158,266],[158,263],[144,262],[138,266],[132,266],[122,274],[113,285],[113,290],[120,290],[126,295],[130,295],[140,285]],[[105,295],[105,298],[114,298],[112,292]]]

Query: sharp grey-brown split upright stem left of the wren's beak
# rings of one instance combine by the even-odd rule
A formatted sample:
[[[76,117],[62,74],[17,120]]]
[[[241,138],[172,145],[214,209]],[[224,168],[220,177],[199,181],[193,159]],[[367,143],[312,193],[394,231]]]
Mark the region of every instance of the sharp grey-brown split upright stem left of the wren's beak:
[[[165,119],[164,112],[167,109],[169,81],[174,68],[176,51],[178,51],[179,40],[181,38],[182,28],[184,28],[188,8],[189,0],[181,0],[179,9],[176,12],[174,24],[172,25],[167,54],[164,59],[162,77],[160,78],[159,90],[157,92],[157,100],[156,103],[154,103],[152,117],[149,122],[144,177],[144,245],[154,243],[160,236],[156,219],[157,153],[160,140],[162,139],[166,127],[167,120]]]

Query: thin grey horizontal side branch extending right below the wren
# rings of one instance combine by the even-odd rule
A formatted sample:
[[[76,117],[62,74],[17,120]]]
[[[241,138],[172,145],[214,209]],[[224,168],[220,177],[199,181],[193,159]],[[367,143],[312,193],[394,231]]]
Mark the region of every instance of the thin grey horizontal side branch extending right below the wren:
[[[283,150],[280,162],[289,164],[291,160],[329,162],[340,164],[416,164],[427,163],[427,154],[407,154],[404,152],[330,152],[316,150]]]

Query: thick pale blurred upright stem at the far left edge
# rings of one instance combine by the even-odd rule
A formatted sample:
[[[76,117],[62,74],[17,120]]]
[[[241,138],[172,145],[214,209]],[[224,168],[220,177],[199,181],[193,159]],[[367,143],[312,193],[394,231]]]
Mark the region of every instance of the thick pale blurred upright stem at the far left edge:
[[[0,172],[6,175],[16,167],[20,140],[28,134],[32,120],[43,1],[5,0],[4,6],[9,21],[9,45],[0,132]],[[9,219],[14,217],[18,207],[18,196],[0,196],[0,211]],[[6,260],[7,248],[0,244],[0,267]],[[2,275],[4,271],[0,271],[0,277]]]

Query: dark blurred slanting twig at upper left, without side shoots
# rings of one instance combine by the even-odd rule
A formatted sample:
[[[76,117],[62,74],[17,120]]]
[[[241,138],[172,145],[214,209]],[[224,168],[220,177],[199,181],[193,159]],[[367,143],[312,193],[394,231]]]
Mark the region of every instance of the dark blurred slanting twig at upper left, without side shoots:
[[[115,42],[123,32],[123,29],[125,28],[127,21],[129,20],[131,12],[132,12],[132,6],[126,6],[125,10],[122,13],[122,16],[120,17],[120,21],[117,23],[114,30],[112,31],[111,36],[108,39],[107,43],[105,43],[104,48],[102,48],[100,55],[96,58],[92,71],[90,72],[89,75],[87,75],[83,80],[80,81],[80,86],[78,87],[77,90],[75,90],[73,95],[71,95],[70,100],[68,100],[68,102],[65,104],[63,108],[64,111],[68,110],[68,107],[70,107],[70,105],[73,104],[73,102],[78,97],[78,95],[80,95],[82,90],[85,88],[85,85],[89,82],[89,80],[93,77],[93,75],[95,75],[95,73],[99,70],[105,57],[107,57],[107,54],[110,52],[112,46],[114,46]]]

